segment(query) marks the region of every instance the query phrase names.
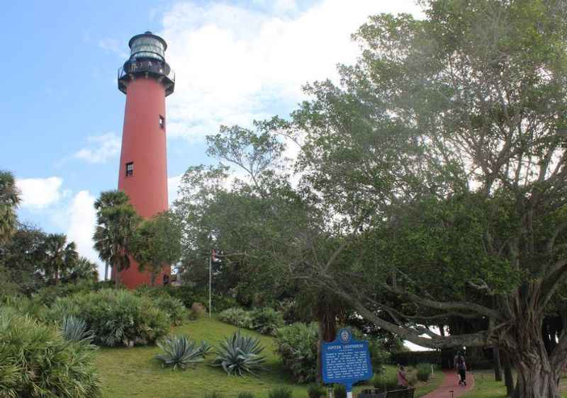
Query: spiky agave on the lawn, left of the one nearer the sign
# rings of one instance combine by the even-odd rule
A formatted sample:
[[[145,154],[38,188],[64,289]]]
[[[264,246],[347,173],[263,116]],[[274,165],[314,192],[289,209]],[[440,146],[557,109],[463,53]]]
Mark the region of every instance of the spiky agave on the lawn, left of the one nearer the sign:
[[[173,366],[174,369],[178,366],[185,369],[193,363],[202,362],[211,349],[206,341],[201,341],[201,344],[197,345],[195,341],[184,335],[167,336],[158,341],[157,345],[165,353],[156,358],[161,360],[164,366]]]

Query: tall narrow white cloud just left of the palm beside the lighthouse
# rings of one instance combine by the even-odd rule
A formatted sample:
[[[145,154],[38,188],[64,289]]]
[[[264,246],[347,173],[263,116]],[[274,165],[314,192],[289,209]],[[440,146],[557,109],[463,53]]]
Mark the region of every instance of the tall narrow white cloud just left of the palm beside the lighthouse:
[[[77,251],[81,256],[89,258],[99,266],[99,276],[104,277],[104,266],[99,260],[99,254],[94,249],[93,234],[96,226],[95,198],[89,191],[79,191],[74,195],[72,203],[67,210],[69,241],[77,244]]]

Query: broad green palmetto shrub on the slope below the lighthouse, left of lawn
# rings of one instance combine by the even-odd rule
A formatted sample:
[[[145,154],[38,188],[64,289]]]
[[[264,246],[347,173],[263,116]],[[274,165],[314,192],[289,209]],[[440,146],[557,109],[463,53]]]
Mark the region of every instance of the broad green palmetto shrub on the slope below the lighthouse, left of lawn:
[[[47,319],[62,322],[64,317],[84,319],[101,346],[153,343],[169,331],[169,315],[155,307],[149,297],[128,290],[105,289],[63,297],[47,311]]]

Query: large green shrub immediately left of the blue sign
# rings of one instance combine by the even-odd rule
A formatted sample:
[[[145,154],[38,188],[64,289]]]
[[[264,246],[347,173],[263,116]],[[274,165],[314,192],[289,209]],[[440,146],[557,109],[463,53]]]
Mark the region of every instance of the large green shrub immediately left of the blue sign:
[[[313,382],[317,377],[317,324],[296,323],[278,329],[277,352],[296,382]]]

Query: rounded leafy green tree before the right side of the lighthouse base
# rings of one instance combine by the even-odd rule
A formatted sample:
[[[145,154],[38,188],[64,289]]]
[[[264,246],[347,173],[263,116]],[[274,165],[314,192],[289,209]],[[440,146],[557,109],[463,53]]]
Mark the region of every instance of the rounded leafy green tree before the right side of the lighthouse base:
[[[155,286],[157,275],[181,257],[181,229],[172,212],[143,221],[136,229],[132,252],[140,271],[150,271]]]

